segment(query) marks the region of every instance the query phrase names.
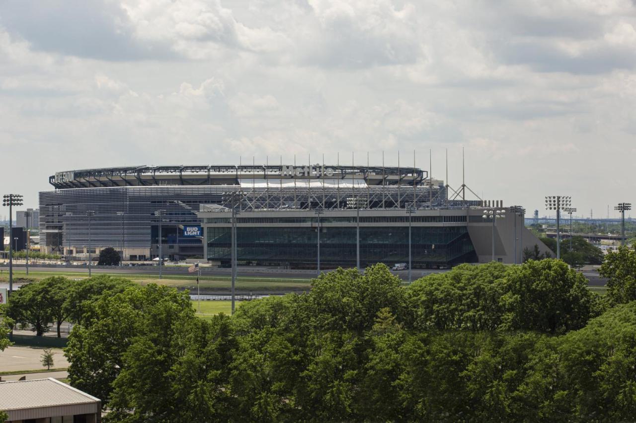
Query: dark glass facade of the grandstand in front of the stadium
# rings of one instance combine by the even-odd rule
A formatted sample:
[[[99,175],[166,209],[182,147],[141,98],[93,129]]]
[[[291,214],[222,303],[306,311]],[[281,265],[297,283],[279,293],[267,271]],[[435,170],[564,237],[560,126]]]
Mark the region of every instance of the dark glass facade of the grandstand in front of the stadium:
[[[209,260],[230,264],[230,227],[208,227]],[[237,227],[237,260],[263,265],[314,268],[317,227]],[[321,265],[356,265],[356,227],[321,226]],[[411,227],[413,267],[476,262],[465,226]],[[361,227],[362,266],[408,262],[407,227]]]

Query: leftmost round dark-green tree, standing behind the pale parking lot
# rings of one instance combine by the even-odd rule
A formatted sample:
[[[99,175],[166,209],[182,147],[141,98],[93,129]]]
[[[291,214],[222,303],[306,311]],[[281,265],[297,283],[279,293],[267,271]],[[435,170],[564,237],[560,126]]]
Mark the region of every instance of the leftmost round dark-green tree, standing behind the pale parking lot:
[[[48,324],[53,321],[49,290],[44,283],[34,282],[11,293],[7,315],[17,323],[32,325],[36,335],[48,332]]]

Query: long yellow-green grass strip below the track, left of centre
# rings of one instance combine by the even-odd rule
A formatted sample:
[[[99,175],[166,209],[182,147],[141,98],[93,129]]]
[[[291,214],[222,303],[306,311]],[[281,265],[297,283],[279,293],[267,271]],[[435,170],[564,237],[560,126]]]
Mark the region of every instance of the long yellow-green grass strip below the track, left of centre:
[[[3,269],[4,270],[4,269]],[[94,275],[102,274],[94,272]],[[88,278],[87,273],[80,272],[68,272],[64,269],[59,271],[46,271],[46,272],[29,272],[27,277],[24,271],[13,272],[14,282],[26,282],[26,281],[39,281],[40,279],[48,278],[49,276],[64,276],[69,279],[84,279]],[[159,276],[148,274],[111,274],[116,278],[131,279],[141,285],[147,285],[148,283],[158,283],[160,285],[173,286],[174,288],[189,289],[190,292],[195,293],[197,290],[197,283],[193,276],[187,275],[172,275],[168,274],[163,276],[163,279],[159,279]],[[9,280],[8,271],[0,273],[0,281],[7,282]],[[232,279],[230,276],[202,276],[200,278],[200,288],[204,291],[229,291]],[[287,279],[287,278],[253,278],[246,276],[237,277],[236,289],[242,293],[249,293],[251,291],[256,292],[289,292],[289,291],[304,291],[309,290],[311,279]]]

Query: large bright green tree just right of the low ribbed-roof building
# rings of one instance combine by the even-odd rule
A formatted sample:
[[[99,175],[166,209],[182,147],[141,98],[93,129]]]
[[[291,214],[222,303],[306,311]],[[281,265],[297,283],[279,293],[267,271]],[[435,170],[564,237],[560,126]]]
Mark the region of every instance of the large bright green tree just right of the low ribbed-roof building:
[[[69,335],[64,352],[71,384],[108,405],[114,381],[134,359],[129,351],[135,351],[145,360],[153,392],[169,391],[173,381],[165,377],[165,349],[188,318],[195,319],[190,297],[174,288],[150,284],[101,295],[92,305],[91,318],[83,318]],[[142,354],[139,345],[153,353]],[[167,398],[156,394],[148,401],[158,404]]]

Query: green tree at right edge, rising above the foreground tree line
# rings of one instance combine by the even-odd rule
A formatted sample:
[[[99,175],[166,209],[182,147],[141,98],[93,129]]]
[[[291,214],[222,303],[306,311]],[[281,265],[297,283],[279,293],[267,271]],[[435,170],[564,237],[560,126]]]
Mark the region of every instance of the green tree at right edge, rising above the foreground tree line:
[[[636,244],[632,247],[636,248]],[[607,253],[598,274],[607,278],[607,296],[613,302],[636,300],[636,250],[621,246]]]

